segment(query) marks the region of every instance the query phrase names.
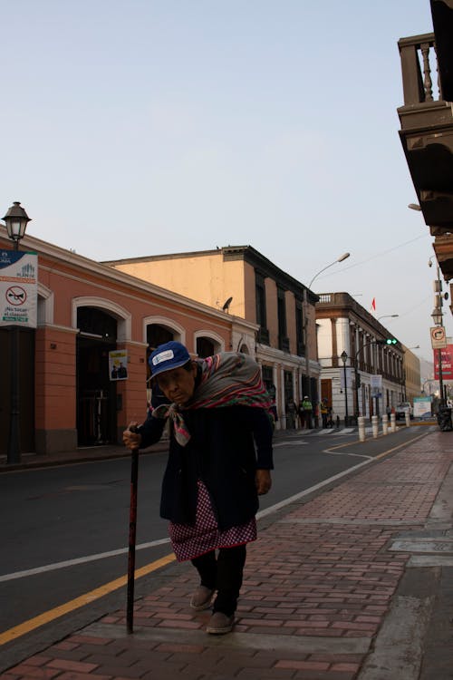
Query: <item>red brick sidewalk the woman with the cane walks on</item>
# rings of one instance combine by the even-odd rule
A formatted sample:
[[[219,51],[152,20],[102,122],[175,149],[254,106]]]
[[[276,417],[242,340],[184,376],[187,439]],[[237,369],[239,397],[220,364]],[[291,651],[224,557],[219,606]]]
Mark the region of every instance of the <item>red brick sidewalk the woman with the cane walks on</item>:
[[[392,540],[425,527],[452,462],[453,436],[435,432],[267,518],[248,547],[236,627],[228,636],[208,636],[209,612],[188,607],[197,580],[184,564],[171,585],[137,600],[133,636],[126,634],[124,611],[116,611],[0,677],[361,677],[410,559],[390,550]],[[453,649],[445,654],[453,667]]]

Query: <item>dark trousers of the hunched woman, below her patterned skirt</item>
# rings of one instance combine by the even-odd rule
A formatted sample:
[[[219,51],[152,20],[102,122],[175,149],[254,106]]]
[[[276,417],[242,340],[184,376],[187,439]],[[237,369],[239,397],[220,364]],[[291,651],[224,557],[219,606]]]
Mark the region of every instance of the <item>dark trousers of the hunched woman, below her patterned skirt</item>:
[[[237,598],[242,586],[244,565],[246,564],[246,546],[235,548],[221,548],[211,550],[199,558],[192,559],[192,564],[198,570],[201,585],[217,590],[214,601],[214,611],[221,611],[227,617],[236,611]]]

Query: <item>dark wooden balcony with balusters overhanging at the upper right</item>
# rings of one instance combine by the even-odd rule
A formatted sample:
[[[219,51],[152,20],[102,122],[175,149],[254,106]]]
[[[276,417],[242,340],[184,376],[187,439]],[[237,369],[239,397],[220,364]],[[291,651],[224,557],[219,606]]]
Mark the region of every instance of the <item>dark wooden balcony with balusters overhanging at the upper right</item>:
[[[453,278],[453,0],[431,0],[434,33],[401,38],[400,140],[439,266]],[[446,238],[448,237],[448,238]],[[439,243],[440,247],[440,243]]]

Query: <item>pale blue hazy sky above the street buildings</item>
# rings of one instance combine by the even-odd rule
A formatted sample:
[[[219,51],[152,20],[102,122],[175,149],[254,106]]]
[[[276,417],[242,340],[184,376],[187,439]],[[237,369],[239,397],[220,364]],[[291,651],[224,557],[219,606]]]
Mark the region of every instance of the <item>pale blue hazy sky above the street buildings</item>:
[[[251,245],[375,298],[432,359],[397,113],[398,40],[432,32],[429,0],[3,0],[0,20],[0,198],[27,233],[100,261]]]

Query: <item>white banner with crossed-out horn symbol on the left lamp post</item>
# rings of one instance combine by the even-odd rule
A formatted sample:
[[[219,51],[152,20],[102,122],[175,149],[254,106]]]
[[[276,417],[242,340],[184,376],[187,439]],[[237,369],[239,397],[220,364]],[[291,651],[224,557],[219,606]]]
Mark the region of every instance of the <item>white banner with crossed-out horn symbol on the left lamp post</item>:
[[[0,250],[0,325],[36,328],[38,256]]]

